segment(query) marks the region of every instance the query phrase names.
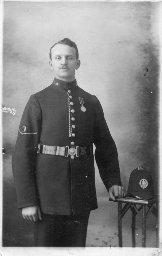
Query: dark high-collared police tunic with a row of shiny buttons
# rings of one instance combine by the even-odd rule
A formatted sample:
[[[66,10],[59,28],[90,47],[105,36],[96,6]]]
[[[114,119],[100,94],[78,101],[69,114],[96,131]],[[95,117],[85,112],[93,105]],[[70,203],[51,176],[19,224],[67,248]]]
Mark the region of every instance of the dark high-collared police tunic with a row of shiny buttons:
[[[81,110],[79,98],[86,111]],[[96,96],[76,80],[55,78],[28,100],[19,125],[12,157],[18,208],[39,204],[47,214],[75,215],[96,209],[94,157],[37,153],[38,143],[49,146],[91,147],[107,190],[121,186],[117,149]],[[71,159],[74,158],[74,159]]]

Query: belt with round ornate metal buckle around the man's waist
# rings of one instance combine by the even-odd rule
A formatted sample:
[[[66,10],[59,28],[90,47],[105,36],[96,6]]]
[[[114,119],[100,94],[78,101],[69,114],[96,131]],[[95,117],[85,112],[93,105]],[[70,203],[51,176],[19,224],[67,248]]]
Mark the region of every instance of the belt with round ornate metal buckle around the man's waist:
[[[84,156],[93,154],[93,145],[86,147],[79,146],[64,146],[64,147],[55,147],[55,146],[47,146],[41,143],[38,144],[38,154],[48,154],[55,156]]]

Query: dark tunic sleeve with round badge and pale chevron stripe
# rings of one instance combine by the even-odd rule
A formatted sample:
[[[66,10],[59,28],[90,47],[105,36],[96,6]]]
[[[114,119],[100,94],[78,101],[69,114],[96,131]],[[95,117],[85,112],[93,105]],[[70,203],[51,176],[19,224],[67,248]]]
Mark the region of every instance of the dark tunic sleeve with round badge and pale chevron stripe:
[[[12,156],[18,208],[39,204],[34,176],[36,154],[41,133],[41,107],[32,95],[24,109]]]

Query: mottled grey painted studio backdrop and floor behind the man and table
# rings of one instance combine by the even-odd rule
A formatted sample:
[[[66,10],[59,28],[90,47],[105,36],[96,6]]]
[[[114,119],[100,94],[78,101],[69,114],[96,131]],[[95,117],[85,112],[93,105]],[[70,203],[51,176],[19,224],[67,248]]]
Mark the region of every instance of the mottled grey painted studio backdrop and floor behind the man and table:
[[[139,165],[151,171],[158,194],[158,8],[151,2],[4,2],[3,245],[33,246],[32,223],[17,209],[11,155],[31,94],[50,85],[49,49],[76,42],[78,85],[98,97],[115,140],[122,185]],[[95,165],[96,166],[96,165]],[[108,201],[96,166],[99,208],[91,212],[86,246],[118,246],[117,204]],[[146,246],[155,247],[154,217],[147,220]],[[136,221],[141,246],[141,219]],[[131,212],[123,219],[123,246],[131,246]]]

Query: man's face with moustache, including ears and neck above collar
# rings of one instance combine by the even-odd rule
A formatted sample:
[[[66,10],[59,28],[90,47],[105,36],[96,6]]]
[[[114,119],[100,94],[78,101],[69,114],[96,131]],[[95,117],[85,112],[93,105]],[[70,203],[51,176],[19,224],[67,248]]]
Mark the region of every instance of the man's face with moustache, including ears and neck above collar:
[[[75,70],[80,67],[80,60],[76,59],[76,50],[66,44],[56,44],[51,52],[52,60],[49,64],[57,79],[71,82],[75,79]]]

